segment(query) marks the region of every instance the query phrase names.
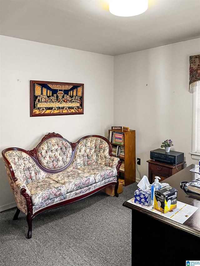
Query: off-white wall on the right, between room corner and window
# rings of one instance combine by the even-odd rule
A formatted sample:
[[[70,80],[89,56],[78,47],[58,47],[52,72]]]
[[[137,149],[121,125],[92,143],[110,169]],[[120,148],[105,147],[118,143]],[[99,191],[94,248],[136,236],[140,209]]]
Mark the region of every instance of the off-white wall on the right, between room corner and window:
[[[200,38],[114,57],[114,125],[136,130],[136,158],[148,176],[150,151],[172,139],[172,150],[191,159],[192,93],[189,56],[200,52]],[[140,180],[136,169],[136,180]]]

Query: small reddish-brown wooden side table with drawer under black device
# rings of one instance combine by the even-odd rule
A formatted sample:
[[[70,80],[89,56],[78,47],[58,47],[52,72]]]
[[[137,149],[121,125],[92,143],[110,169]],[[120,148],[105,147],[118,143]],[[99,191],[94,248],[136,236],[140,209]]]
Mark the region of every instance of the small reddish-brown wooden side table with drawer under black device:
[[[173,165],[154,160],[148,160],[147,162],[149,164],[148,180],[150,184],[154,182],[156,176],[161,178],[159,182],[171,177],[173,174],[181,171],[184,168],[184,163],[186,163],[180,162],[177,165]]]

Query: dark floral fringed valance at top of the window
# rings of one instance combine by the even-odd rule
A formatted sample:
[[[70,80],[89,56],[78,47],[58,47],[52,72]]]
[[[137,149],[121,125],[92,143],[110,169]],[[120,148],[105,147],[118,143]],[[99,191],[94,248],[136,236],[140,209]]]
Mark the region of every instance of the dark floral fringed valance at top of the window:
[[[190,56],[190,89],[200,84],[200,55]]]

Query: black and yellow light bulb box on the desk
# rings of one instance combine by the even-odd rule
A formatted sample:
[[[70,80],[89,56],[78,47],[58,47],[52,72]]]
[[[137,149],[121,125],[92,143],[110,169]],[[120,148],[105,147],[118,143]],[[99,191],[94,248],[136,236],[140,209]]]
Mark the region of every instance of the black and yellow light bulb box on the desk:
[[[155,191],[154,209],[166,213],[177,207],[177,189],[172,186],[164,186]]]

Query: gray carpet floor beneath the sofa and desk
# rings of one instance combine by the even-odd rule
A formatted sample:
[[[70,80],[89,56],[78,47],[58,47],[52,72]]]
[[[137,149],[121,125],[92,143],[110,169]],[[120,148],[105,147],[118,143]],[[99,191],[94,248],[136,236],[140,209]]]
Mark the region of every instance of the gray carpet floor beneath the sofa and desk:
[[[99,191],[81,201],[48,210],[32,222],[16,208],[0,213],[0,265],[131,266],[131,210],[123,207],[137,183],[119,197]]]

